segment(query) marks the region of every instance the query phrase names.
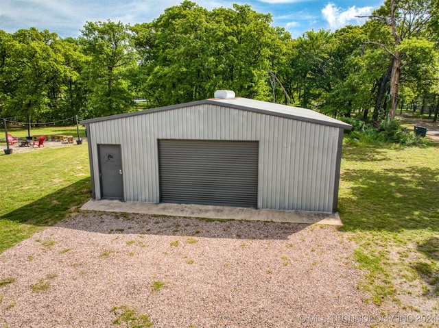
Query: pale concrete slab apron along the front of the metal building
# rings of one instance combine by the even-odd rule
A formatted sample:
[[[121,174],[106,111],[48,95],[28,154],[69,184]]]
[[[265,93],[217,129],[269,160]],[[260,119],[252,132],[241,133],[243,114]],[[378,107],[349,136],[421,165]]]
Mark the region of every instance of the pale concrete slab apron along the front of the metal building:
[[[154,204],[102,199],[88,201],[82,205],[81,210],[187,216],[193,218],[218,218],[222,220],[259,220],[269,222],[342,225],[342,220],[340,220],[340,216],[338,216],[337,213],[256,210],[254,208],[232,206]]]

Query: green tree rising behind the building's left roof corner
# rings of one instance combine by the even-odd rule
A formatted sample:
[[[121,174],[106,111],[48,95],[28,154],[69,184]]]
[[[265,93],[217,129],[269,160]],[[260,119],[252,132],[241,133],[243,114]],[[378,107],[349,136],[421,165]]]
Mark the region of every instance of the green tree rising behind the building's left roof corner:
[[[127,72],[137,65],[130,45],[130,26],[123,23],[87,22],[79,38],[88,56],[84,77],[91,90],[88,99],[93,116],[130,112],[134,92]]]

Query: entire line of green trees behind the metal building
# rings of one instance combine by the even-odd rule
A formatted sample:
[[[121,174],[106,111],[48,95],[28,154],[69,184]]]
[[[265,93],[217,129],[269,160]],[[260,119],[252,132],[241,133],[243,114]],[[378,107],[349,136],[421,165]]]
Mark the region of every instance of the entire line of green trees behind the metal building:
[[[87,22],[78,38],[0,30],[1,116],[92,118],[213,97],[392,120],[399,108],[439,110],[439,4],[386,0],[361,26],[293,38],[250,5],[206,10],[191,1],[149,23]]]

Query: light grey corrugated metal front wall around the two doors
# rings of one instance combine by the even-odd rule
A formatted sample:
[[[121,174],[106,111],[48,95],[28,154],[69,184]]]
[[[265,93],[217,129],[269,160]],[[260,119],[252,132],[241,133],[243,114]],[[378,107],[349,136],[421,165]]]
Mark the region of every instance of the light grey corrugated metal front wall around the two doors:
[[[158,139],[259,141],[258,207],[333,212],[342,129],[289,118],[198,105],[90,123],[97,144],[121,144],[126,201],[158,203]],[[99,183],[95,197],[100,199]],[[335,195],[336,197],[336,195]]]

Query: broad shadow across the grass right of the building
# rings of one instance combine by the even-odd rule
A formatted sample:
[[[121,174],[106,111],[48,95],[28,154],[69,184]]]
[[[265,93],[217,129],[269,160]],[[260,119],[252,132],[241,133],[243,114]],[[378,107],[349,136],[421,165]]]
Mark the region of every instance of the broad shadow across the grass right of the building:
[[[439,231],[438,177],[439,170],[420,167],[344,171],[342,179],[353,186],[340,197],[340,229]]]

